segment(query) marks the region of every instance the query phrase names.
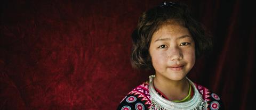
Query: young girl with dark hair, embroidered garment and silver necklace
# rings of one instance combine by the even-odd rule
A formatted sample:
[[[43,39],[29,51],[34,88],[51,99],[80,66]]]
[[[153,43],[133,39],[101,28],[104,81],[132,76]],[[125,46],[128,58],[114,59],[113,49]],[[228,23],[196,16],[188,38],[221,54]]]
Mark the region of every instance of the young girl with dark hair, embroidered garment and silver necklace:
[[[118,109],[223,109],[217,94],[186,77],[211,41],[185,5],[164,2],[143,13],[132,40],[132,65],[155,75],[129,92]]]

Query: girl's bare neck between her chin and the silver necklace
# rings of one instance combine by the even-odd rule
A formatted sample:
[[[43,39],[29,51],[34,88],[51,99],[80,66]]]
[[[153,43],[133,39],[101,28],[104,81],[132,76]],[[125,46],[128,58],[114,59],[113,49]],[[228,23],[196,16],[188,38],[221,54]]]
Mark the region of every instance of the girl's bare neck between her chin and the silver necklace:
[[[154,78],[154,86],[169,100],[182,100],[188,95],[189,91],[189,82],[186,78],[181,80],[170,80],[156,74]]]

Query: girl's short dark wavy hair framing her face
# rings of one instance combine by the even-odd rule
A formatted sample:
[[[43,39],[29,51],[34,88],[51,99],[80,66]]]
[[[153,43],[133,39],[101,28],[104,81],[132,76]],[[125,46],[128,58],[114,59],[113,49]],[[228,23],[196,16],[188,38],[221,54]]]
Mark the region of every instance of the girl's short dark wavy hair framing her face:
[[[189,30],[195,41],[196,58],[204,52],[209,52],[212,47],[211,38],[201,23],[192,18],[187,5],[180,2],[164,2],[142,13],[138,26],[132,33],[131,64],[134,68],[154,70],[149,55],[151,38],[155,31],[171,23],[179,23]]]

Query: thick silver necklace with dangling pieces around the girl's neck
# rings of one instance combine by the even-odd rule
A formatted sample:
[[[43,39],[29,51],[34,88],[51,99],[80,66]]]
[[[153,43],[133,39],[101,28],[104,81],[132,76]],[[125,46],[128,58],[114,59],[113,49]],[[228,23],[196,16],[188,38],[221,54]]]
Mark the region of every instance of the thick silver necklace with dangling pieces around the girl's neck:
[[[194,88],[194,95],[193,97],[185,102],[175,103],[173,101],[167,100],[157,94],[156,90],[154,89],[153,79],[155,75],[149,76],[149,94],[151,96],[151,107],[149,110],[178,110],[178,109],[193,109],[193,110],[203,110],[207,108],[207,102],[203,100],[201,94],[199,94],[198,90],[196,89],[194,83],[190,81],[187,77],[187,80]]]

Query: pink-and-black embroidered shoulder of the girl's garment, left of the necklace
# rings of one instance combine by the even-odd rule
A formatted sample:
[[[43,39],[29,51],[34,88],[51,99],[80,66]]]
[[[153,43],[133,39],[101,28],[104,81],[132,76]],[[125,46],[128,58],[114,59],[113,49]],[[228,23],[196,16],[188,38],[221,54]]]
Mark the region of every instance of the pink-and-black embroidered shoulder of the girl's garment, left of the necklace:
[[[150,105],[148,83],[142,83],[123,98],[117,109],[148,109]]]

